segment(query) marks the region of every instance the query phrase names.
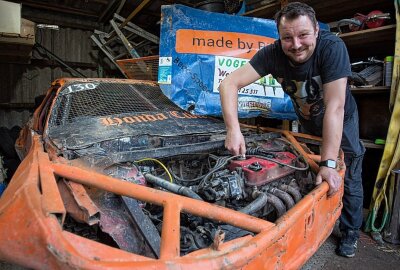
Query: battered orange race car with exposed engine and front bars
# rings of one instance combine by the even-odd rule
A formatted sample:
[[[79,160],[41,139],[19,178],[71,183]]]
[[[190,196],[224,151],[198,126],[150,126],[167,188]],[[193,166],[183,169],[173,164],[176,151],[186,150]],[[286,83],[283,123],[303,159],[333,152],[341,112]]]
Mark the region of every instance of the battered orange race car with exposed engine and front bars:
[[[56,80],[0,198],[0,260],[34,269],[293,269],[331,233],[343,189],[314,185],[320,140],[179,109],[157,84]],[[314,152],[313,152],[314,151]],[[343,156],[339,168],[344,175]]]

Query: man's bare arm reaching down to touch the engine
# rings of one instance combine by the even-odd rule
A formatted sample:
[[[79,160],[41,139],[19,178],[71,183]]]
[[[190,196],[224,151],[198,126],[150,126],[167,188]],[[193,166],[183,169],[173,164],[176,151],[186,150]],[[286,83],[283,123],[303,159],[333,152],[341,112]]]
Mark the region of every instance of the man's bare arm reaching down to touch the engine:
[[[222,113],[226,126],[225,147],[233,155],[244,155],[246,145],[240,131],[238,119],[238,90],[260,78],[255,69],[247,63],[229,74],[220,84]]]

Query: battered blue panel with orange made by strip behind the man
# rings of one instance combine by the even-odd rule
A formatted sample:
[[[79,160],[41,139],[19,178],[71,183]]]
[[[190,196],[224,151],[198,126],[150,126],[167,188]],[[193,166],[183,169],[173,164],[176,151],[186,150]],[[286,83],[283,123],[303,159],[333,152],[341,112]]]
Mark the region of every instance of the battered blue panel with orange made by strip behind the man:
[[[221,116],[220,82],[278,38],[273,20],[213,13],[183,5],[161,8],[158,83],[193,114]],[[271,75],[239,89],[239,117],[296,119]]]

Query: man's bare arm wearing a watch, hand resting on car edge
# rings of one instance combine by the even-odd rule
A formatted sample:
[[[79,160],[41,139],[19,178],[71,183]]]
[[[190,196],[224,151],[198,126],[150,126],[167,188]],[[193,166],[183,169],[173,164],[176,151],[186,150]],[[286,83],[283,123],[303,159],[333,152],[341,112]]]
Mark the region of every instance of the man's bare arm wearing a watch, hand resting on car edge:
[[[323,85],[325,115],[322,130],[321,160],[336,160],[342,140],[344,104],[347,78],[341,78]],[[320,167],[316,184],[325,180],[329,184],[328,195],[338,191],[342,179],[335,169]]]

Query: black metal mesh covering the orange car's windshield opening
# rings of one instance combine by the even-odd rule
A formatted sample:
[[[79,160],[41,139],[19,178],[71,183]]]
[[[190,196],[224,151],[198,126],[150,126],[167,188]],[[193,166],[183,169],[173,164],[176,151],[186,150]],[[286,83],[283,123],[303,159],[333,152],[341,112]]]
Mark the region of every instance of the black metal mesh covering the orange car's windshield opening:
[[[50,125],[71,123],[82,117],[179,110],[156,86],[100,83],[95,89],[59,96]]]

